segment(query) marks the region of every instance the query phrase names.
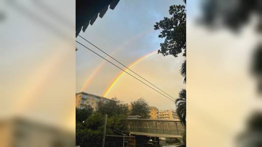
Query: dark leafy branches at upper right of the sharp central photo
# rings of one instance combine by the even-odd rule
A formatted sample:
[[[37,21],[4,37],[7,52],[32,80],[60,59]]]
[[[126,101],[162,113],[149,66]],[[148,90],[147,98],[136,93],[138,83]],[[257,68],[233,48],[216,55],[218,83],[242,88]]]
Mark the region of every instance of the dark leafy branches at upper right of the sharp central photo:
[[[183,0],[186,3],[186,0]],[[186,57],[186,9],[184,5],[171,5],[169,9],[171,18],[164,17],[164,20],[157,22],[154,25],[155,30],[162,29],[159,38],[165,38],[164,43],[160,44],[161,49],[158,53],[164,56],[173,55],[178,57],[178,54],[183,52]],[[181,75],[186,83],[186,60],[184,60],[181,69]]]

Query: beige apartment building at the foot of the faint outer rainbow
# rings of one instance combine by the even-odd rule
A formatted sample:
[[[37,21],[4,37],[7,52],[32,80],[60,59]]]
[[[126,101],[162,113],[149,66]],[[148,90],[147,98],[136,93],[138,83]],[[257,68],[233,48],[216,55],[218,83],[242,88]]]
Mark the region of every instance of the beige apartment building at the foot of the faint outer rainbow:
[[[109,100],[108,98],[81,92],[76,94],[76,107],[83,109],[90,105],[94,110],[97,110],[100,102],[106,103]]]

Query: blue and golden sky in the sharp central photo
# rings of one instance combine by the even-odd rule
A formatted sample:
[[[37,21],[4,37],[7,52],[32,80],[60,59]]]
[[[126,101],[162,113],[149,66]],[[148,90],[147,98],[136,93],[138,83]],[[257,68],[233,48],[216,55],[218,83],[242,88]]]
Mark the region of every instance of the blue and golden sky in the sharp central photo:
[[[160,48],[160,43],[164,40],[158,38],[160,31],[154,30],[153,25],[164,17],[170,17],[168,10],[173,4],[183,4],[183,1],[120,0],[114,10],[108,9],[102,19],[97,18],[95,23],[89,25],[85,32],[80,32],[80,35],[124,65],[130,65]],[[106,57],[80,37],[77,37],[77,40]],[[125,103],[145,98],[149,105],[160,110],[175,109],[173,101],[126,73],[103,95],[121,71],[108,62],[103,63],[104,59],[81,45],[76,46],[79,49],[76,51],[76,92],[84,91],[106,98],[116,97]],[[179,73],[183,60],[181,55],[175,58],[171,55],[164,57],[162,54],[152,54],[131,69],[177,98],[179,91],[185,88],[183,77]]]

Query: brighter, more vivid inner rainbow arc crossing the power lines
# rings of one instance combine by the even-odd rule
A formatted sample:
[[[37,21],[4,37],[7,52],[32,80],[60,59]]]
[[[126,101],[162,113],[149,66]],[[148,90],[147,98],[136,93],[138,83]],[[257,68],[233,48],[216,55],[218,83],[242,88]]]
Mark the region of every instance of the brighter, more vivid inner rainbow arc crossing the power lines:
[[[131,63],[130,65],[128,65],[128,69],[132,68],[133,66],[135,66],[136,64],[138,64],[139,62],[143,61],[144,59],[150,57],[151,55],[157,54],[157,50],[154,50],[142,57],[140,57],[139,59],[137,59],[136,61],[134,61],[133,63]],[[128,69],[126,68],[124,71],[128,71]],[[109,86],[106,88],[106,90],[103,93],[103,97],[107,97],[108,93],[110,92],[110,90],[114,87],[114,85],[116,84],[116,82],[119,80],[119,78],[125,73],[124,71],[119,72],[116,77],[114,78],[114,80],[109,84]]]

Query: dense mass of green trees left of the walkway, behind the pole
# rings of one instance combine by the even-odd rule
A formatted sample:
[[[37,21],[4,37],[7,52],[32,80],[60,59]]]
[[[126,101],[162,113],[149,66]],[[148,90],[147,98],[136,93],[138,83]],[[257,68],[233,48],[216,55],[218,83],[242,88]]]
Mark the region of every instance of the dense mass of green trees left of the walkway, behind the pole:
[[[77,118],[79,118],[82,110],[77,110]],[[86,112],[86,111],[84,111]],[[89,111],[88,111],[89,112]],[[127,104],[117,100],[116,98],[107,103],[101,103],[98,111],[93,112],[92,115],[85,115],[86,120],[83,118],[76,123],[76,145],[81,147],[101,147],[103,128],[105,122],[105,115],[108,115],[106,134],[119,135],[116,132],[121,132],[122,119],[126,118],[128,113]]]

